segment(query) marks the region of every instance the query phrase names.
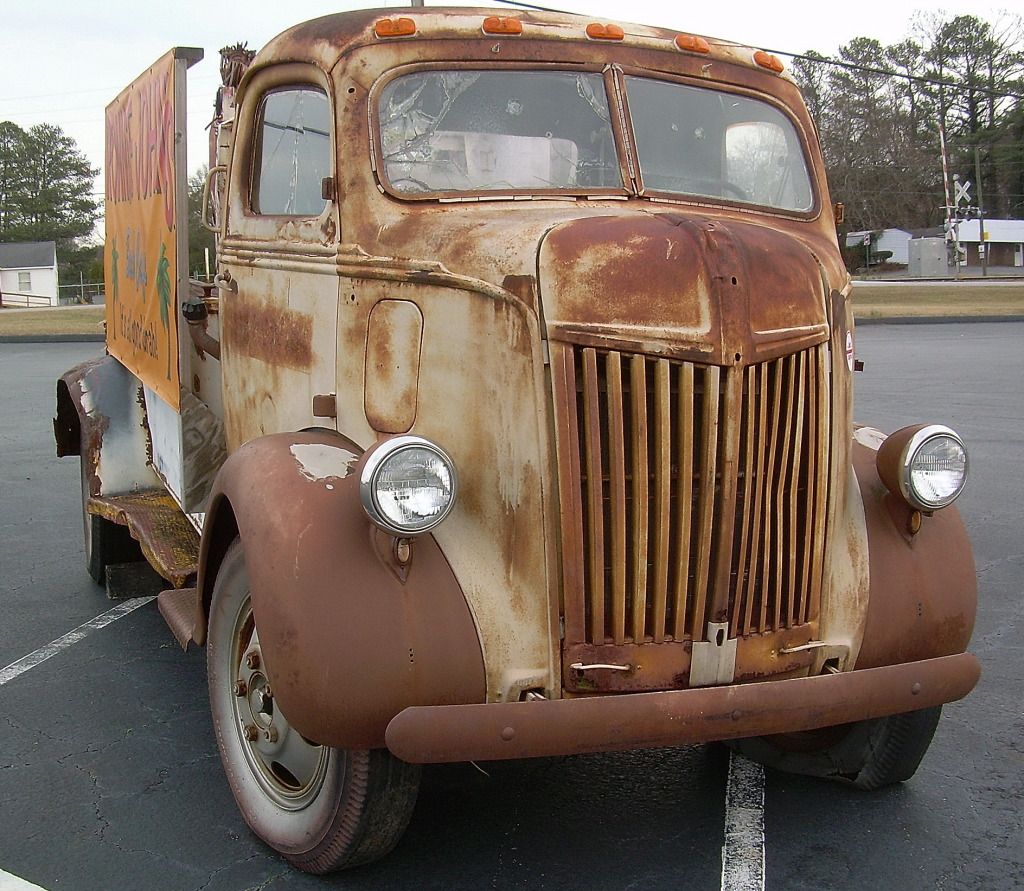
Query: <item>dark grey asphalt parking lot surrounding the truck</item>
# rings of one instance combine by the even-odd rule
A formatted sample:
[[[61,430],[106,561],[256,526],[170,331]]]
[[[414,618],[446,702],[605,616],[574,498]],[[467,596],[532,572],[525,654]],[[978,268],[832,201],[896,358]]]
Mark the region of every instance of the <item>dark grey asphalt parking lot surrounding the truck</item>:
[[[902,787],[864,794],[768,771],[769,889],[1024,888],[1022,345],[1024,323],[859,331],[858,420],[947,423],[971,450],[961,508],[983,676],[945,709]],[[78,466],[53,457],[50,426],[55,377],[100,349],[0,344],[0,669],[117,606],[85,572]],[[87,631],[0,673],[9,876],[49,891],[723,886],[729,756],[717,747],[430,767],[389,858],[327,880],[298,874],[238,814],[204,653],[182,653],[153,603]]]

